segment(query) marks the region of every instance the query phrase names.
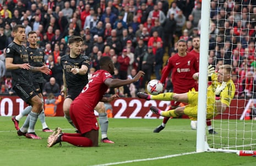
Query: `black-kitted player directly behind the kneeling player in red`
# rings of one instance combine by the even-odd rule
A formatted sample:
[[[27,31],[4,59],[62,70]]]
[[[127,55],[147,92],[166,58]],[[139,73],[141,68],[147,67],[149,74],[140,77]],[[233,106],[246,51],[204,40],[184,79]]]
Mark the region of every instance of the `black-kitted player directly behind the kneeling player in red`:
[[[63,102],[63,111],[68,122],[74,126],[69,115],[70,104],[79,95],[84,86],[88,83],[88,69],[90,65],[89,57],[81,56],[81,47],[83,38],[80,36],[71,36],[68,40],[70,54],[61,57],[63,69],[63,89],[65,100]],[[99,123],[101,125],[101,141],[104,143],[115,143],[108,139],[108,119],[104,103],[99,102],[95,107],[99,113]],[[77,132],[80,132],[77,130]]]

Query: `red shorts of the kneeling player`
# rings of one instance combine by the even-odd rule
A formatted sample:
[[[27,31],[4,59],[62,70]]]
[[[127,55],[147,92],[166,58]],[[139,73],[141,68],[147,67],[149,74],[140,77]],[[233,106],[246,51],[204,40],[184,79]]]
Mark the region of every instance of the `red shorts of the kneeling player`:
[[[72,103],[70,105],[69,115],[81,134],[85,134],[91,130],[99,130],[99,124],[94,114],[94,109],[88,110],[81,107],[79,104]]]

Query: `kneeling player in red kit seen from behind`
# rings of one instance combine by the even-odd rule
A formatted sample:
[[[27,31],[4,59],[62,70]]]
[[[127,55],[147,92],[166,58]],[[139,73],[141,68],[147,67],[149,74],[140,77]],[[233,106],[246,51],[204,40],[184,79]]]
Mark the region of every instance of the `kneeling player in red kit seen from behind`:
[[[100,70],[97,70],[92,75],[91,80],[70,106],[70,118],[81,134],[62,133],[61,128],[56,128],[55,132],[48,137],[48,147],[52,147],[62,141],[81,147],[98,146],[99,125],[94,114],[94,107],[100,101],[110,102],[118,98],[118,95],[113,95],[109,98],[103,97],[108,87],[131,84],[138,81],[145,74],[143,71],[139,71],[133,79],[119,80],[112,78],[111,74],[114,74],[114,69],[115,67],[110,57],[102,57],[100,59]]]

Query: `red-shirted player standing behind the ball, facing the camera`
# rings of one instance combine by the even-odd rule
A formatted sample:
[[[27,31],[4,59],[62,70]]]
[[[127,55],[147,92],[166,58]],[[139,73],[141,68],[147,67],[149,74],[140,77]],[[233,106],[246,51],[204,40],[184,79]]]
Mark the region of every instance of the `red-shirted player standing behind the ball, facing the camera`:
[[[193,79],[193,74],[198,72],[198,58],[192,53],[187,53],[185,40],[178,40],[178,53],[168,59],[167,67],[162,73],[161,82],[164,83],[170,71],[172,71],[173,92],[184,93],[195,89],[198,91],[197,81]],[[180,102],[171,101],[171,109],[178,107]],[[154,132],[160,132],[170,117],[165,117],[162,124]]]

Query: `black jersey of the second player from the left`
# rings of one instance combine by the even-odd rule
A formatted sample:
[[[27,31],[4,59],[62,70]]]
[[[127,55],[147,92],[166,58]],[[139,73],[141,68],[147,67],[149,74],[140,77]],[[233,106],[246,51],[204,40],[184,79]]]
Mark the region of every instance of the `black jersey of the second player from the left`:
[[[45,64],[45,53],[41,48],[26,47],[29,54],[29,64],[32,67],[42,67]],[[43,83],[43,75],[41,72],[31,72],[33,82]]]

